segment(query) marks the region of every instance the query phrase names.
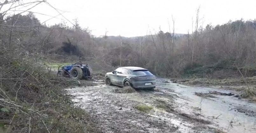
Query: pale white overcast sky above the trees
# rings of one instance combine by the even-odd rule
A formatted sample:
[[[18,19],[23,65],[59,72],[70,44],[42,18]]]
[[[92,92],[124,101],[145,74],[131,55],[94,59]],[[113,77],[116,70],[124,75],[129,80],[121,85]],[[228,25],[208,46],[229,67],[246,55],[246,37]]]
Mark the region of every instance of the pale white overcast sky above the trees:
[[[48,0],[57,9],[67,11],[63,15],[70,21],[77,18],[83,28],[92,30],[96,36],[121,35],[126,37],[155,33],[159,27],[172,30],[171,16],[175,19],[175,32],[187,33],[195,20],[200,6],[201,25],[223,24],[229,20],[256,18],[256,0]],[[55,16],[58,12],[50,6],[38,5],[35,12]],[[41,22],[49,16],[35,14]],[[52,25],[65,20],[62,16],[46,22]],[[66,20],[65,20],[66,21]],[[68,25],[71,25],[68,22]]]

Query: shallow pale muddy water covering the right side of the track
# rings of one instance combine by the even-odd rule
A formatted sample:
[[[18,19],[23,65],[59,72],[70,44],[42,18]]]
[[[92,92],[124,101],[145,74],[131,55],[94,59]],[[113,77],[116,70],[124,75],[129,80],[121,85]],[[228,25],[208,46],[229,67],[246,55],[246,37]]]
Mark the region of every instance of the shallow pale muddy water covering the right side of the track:
[[[256,132],[255,103],[234,96],[214,95],[215,98],[211,98],[195,95],[195,92],[231,93],[231,91],[210,87],[192,87],[176,83],[161,86],[174,90],[180,96],[176,103],[181,111],[191,113],[192,111],[188,110],[188,107],[190,109],[194,108],[197,113],[207,117],[215,124],[212,127],[217,126],[225,132],[232,133]]]

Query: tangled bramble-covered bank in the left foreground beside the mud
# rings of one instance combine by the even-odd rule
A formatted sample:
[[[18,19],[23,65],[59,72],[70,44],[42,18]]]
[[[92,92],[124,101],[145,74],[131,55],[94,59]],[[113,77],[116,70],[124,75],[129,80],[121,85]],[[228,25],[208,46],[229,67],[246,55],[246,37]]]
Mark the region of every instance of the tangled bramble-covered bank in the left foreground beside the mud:
[[[77,82],[48,71],[43,56],[0,56],[0,132],[101,132],[62,92]]]

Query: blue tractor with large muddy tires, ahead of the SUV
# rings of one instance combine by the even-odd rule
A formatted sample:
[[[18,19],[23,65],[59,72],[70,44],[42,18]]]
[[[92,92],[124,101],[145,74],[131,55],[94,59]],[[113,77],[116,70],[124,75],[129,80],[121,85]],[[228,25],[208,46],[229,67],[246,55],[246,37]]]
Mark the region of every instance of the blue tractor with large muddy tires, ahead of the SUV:
[[[71,65],[59,66],[58,75],[71,77],[73,79],[92,79],[93,70],[87,64],[75,63]]]

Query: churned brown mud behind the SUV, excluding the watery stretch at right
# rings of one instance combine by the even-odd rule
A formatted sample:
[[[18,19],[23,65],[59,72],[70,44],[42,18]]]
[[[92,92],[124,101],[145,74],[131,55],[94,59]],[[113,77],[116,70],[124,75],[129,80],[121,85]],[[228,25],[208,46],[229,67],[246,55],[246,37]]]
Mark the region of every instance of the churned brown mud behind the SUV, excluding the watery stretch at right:
[[[95,118],[104,132],[214,132],[217,124],[211,123],[198,107],[190,106],[193,99],[176,92],[175,86],[157,79],[154,90],[133,93],[115,93],[117,86],[100,82],[97,86],[67,89],[75,105]],[[178,86],[182,88],[184,86]],[[138,104],[151,105],[149,112],[138,111]]]

